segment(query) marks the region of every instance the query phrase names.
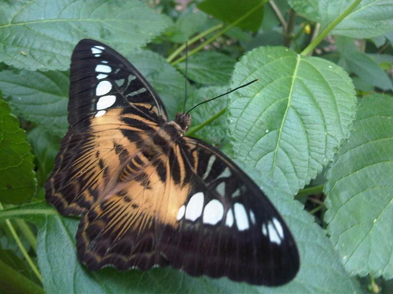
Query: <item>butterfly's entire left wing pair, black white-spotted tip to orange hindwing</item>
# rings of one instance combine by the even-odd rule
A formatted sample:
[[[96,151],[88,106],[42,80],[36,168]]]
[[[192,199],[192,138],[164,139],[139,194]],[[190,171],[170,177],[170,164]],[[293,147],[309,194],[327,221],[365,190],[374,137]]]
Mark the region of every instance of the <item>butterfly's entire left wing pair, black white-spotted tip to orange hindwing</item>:
[[[46,198],[64,215],[82,215],[112,189],[121,167],[167,115],[148,82],[108,46],[82,40],[71,60],[70,126]]]

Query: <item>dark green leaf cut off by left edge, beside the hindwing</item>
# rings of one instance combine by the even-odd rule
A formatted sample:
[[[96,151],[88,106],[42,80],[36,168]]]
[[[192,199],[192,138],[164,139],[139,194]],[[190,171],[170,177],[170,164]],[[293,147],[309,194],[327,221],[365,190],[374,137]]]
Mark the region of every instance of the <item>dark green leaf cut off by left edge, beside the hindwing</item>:
[[[18,204],[34,194],[37,181],[25,131],[0,96],[0,202]]]

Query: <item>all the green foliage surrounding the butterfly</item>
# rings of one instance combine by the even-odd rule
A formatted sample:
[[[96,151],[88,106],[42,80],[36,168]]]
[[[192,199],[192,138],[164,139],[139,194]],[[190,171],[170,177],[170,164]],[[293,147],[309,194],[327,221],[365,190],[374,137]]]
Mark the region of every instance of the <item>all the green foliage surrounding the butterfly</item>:
[[[259,78],[193,111],[190,132],[222,148],[281,212],[301,255],[293,281],[84,269],[79,220],[43,191],[83,38],[124,54],[171,118],[183,107],[187,40],[186,108]],[[392,43],[390,0],[2,1],[0,292],[391,292]]]

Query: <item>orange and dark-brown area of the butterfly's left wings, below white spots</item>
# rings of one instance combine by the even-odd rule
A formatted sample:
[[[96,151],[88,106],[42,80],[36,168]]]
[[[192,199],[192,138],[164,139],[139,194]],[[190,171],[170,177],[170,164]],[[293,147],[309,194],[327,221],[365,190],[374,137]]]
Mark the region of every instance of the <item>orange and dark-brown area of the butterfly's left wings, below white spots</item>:
[[[100,201],[113,188],[122,167],[140,153],[138,144],[146,134],[124,123],[136,117],[111,109],[92,118],[89,127],[70,128],[45,186],[47,201],[64,215],[83,215]]]

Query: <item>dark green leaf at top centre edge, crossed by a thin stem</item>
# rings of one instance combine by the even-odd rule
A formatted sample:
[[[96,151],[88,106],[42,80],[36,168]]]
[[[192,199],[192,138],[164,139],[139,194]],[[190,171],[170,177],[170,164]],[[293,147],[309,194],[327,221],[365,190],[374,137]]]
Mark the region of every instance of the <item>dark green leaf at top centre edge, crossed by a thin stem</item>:
[[[239,3],[238,0],[203,0],[197,7],[225,23],[233,23],[251,9],[260,5],[260,0],[247,0]],[[263,6],[260,6],[238,26],[245,30],[257,31],[263,19]]]

